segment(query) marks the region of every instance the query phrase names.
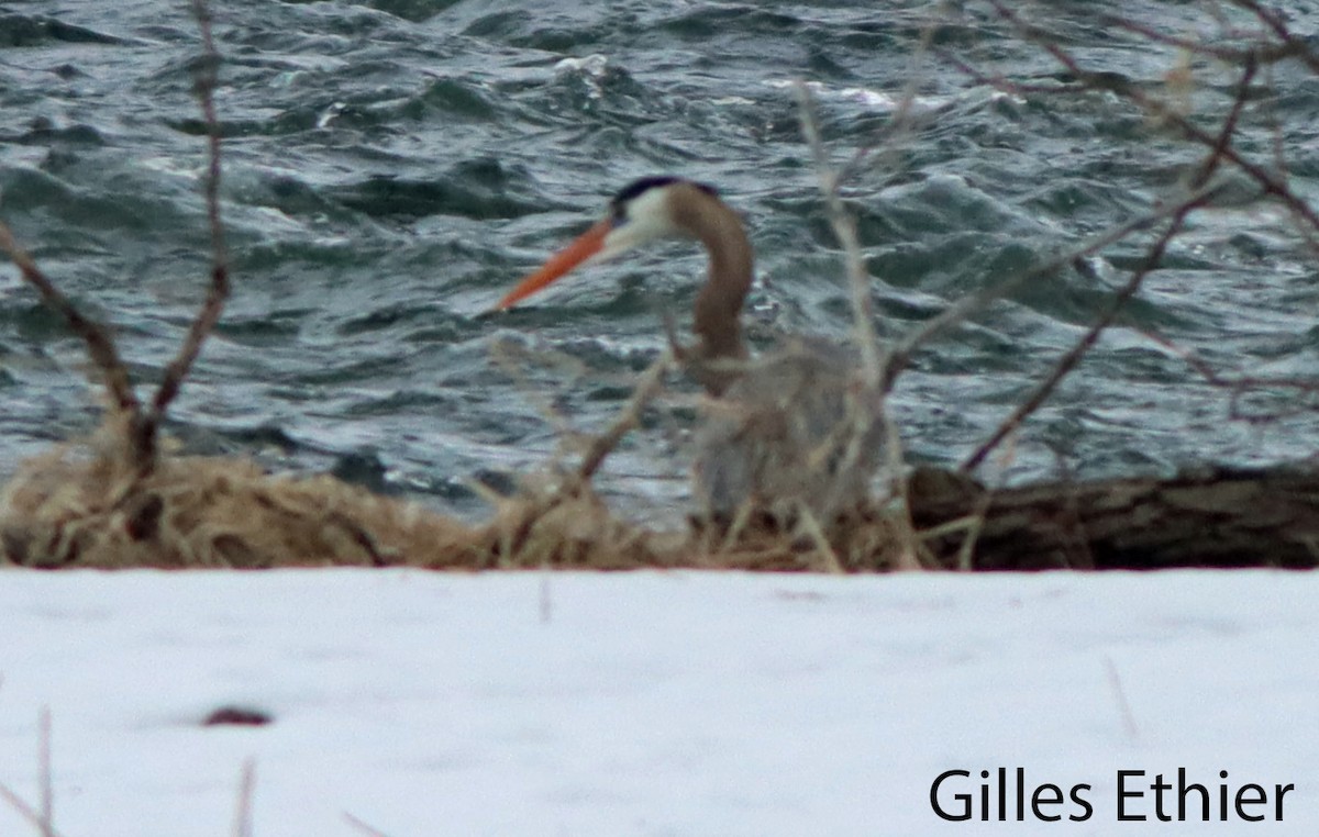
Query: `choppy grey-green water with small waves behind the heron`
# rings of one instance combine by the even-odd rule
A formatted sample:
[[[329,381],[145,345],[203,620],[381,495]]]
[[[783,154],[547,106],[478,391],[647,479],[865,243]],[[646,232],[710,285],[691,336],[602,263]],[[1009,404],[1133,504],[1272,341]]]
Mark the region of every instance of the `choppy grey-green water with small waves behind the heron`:
[[[1057,80],[1037,47],[960,5],[940,49]],[[1099,5],[1049,3],[1037,17],[1095,69],[1158,84],[1175,53],[1097,24],[1087,9]],[[936,58],[914,65],[936,7],[215,0],[235,294],[171,432],[194,451],[334,469],[480,514],[474,476],[500,482],[550,456],[565,426],[599,427],[663,344],[657,310],[686,314],[703,260],[675,245],[480,316],[617,187],[653,173],[712,182],[745,214],[764,279],[748,315],[758,347],[844,339],[847,293],[794,78],[816,84],[842,157],[874,140],[917,74],[921,129],[848,192],[888,335],[1145,211],[1198,158],[1112,96],[1021,100]],[[1213,32],[1195,4],[1124,8],[1170,33]],[[1306,34],[1316,22],[1294,20]],[[197,54],[186,3],[0,4],[0,212],[62,287],[115,323],[145,378],[203,293]],[[1212,124],[1232,76],[1206,65],[1196,78]],[[1294,187],[1312,195],[1319,82],[1290,65],[1269,80],[1275,96],[1253,107],[1275,108]],[[1242,149],[1272,142],[1260,117]],[[987,438],[1125,281],[1142,241],[923,349],[894,395],[913,456],[954,464]],[[80,345],[11,265],[0,279],[0,461],[12,468],[86,430],[95,405]],[[1319,368],[1316,301],[1312,254],[1283,212],[1248,196],[1195,216],[1124,322],[1224,372],[1301,376]],[[657,497],[681,507],[681,401],[611,460],[601,485],[624,510]],[[1112,331],[991,476],[1268,463],[1319,439],[1312,413],[1252,424],[1228,411],[1175,355]]]

